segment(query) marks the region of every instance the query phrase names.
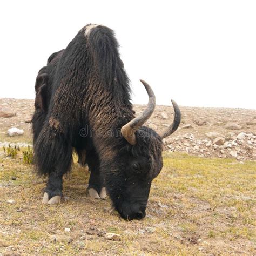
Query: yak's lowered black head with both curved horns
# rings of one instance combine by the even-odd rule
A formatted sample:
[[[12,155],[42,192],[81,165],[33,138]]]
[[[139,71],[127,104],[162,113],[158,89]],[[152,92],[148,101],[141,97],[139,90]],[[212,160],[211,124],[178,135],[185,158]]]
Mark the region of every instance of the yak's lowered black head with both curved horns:
[[[151,116],[156,99],[151,87],[141,80],[149,95],[149,103],[140,116],[125,124],[121,133],[125,146],[109,154],[103,160],[107,191],[116,210],[125,219],[145,217],[147,199],[151,182],[158,176],[162,167],[163,138],[177,130],[180,124],[180,110],[172,100],[174,107],[173,123],[161,134],[143,126]]]

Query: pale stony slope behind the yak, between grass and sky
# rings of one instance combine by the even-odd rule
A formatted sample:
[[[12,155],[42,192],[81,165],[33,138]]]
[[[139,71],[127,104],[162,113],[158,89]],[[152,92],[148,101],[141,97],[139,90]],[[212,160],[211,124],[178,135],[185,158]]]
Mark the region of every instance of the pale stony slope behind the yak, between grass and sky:
[[[136,113],[145,105],[134,105]],[[180,107],[181,124],[164,140],[167,151],[186,152],[199,157],[256,160],[256,110],[206,107]],[[0,146],[31,143],[33,100],[0,99]],[[173,118],[171,106],[157,105],[146,125],[156,131],[165,129]],[[24,134],[10,137],[8,129],[17,127]],[[14,145],[12,144],[12,145]]]

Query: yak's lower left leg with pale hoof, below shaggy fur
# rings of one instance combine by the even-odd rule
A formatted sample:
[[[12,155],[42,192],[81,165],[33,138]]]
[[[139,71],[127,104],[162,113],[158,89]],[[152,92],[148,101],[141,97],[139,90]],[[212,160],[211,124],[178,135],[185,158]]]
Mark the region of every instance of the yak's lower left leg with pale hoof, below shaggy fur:
[[[49,174],[48,183],[45,188],[43,204],[59,204],[62,197],[63,174],[53,171]]]

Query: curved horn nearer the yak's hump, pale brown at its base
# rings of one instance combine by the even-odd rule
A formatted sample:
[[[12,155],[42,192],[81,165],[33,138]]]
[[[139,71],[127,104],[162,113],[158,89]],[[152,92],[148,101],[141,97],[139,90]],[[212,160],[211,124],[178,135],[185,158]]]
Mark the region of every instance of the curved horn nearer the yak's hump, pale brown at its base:
[[[147,119],[150,118],[151,114],[154,112],[154,107],[156,106],[156,97],[154,96],[153,90],[144,80],[140,79],[140,82],[143,83],[147,91],[147,95],[149,95],[147,107],[138,117],[133,118],[129,123],[125,124],[121,128],[123,137],[133,146],[136,144],[136,137],[134,133],[146,122]]]

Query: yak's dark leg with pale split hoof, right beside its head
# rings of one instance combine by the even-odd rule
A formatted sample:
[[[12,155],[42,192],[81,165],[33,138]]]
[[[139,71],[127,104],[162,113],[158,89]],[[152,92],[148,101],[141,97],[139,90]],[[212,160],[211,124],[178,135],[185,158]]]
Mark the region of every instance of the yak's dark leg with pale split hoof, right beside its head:
[[[91,172],[89,179],[89,195],[95,199],[106,198],[106,188],[104,187],[103,178],[99,171],[99,158],[95,150],[87,152],[87,164]]]

